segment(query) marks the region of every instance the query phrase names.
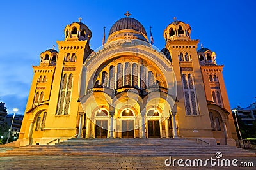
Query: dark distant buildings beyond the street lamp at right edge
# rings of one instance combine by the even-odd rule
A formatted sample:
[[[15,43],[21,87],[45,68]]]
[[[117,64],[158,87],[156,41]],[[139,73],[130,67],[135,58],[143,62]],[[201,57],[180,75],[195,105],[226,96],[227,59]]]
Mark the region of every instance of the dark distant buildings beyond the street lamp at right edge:
[[[241,108],[237,106],[237,115],[244,122],[245,125],[253,125],[253,121],[256,120],[256,103],[250,104],[247,108]],[[234,113],[234,111],[232,111]]]

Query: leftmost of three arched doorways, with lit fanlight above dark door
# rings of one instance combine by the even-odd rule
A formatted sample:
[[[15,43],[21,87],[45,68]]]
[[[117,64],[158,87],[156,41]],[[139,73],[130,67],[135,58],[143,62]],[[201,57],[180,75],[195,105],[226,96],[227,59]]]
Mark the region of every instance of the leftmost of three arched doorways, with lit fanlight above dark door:
[[[100,109],[95,118],[95,138],[108,138],[108,112]]]

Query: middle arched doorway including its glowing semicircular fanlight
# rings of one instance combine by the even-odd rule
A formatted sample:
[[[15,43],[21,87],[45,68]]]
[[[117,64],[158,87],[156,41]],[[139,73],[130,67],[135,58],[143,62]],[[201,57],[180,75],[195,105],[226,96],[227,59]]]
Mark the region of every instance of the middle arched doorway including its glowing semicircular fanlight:
[[[134,138],[134,113],[126,109],[122,111],[122,138]]]

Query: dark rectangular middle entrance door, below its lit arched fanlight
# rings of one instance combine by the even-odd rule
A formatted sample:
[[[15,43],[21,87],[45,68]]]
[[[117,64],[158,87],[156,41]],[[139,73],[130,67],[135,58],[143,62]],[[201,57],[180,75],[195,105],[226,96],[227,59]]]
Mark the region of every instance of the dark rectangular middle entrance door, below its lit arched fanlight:
[[[122,120],[122,138],[134,138],[133,120]]]

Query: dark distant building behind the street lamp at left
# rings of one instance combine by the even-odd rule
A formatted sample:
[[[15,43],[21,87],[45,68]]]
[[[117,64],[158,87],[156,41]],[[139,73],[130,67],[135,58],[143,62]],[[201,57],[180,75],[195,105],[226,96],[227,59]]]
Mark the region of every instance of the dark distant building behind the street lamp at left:
[[[23,117],[24,115],[19,115],[19,114],[15,115],[13,124],[12,124],[13,113],[7,115],[6,117],[7,126],[10,128],[12,124],[12,131],[11,131],[12,136],[19,136]]]

